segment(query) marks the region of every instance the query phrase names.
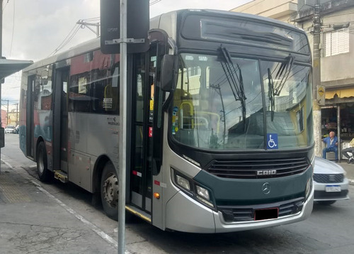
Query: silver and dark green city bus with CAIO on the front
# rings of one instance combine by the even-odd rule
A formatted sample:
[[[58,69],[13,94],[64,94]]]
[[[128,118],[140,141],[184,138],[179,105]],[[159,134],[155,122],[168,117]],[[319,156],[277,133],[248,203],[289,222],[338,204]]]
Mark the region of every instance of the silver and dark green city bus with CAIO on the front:
[[[180,10],[127,55],[127,214],[162,230],[226,233],[307,219],[313,206],[312,55],[270,18]],[[91,40],[23,70],[20,148],[118,219],[120,61]]]

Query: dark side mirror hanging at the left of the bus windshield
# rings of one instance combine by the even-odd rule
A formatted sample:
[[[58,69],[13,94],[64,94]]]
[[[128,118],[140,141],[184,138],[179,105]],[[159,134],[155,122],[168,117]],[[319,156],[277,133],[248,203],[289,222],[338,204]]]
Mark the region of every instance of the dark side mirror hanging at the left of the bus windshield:
[[[173,55],[164,55],[161,68],[161,89],[164,92],[171,92],[173,89],[174,63]]]

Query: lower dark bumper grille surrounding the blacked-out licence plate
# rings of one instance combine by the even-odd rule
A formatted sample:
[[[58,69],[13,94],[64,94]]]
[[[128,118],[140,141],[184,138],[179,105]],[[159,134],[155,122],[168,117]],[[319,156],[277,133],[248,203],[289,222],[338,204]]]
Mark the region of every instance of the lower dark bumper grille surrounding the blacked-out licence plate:
[[[254,221],[255,212],[267,209],[278,209],[278,218],[297,214],[304,206],[304,197],[282,201],[279,203],[266,204],[261,206],[217,206],[218,211],[222,212],[224,221],[240,222]]]

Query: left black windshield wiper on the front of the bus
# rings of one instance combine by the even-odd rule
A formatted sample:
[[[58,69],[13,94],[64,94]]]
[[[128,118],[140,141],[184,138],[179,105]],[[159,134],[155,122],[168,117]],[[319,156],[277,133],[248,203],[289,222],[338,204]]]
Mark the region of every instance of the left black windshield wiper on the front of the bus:
[[[244,121],[244,131],[246,131],[246,95],[244,93],[244,79],[242,78],[242,72],[239,65],[237,65],[237,70],[239,70],[239,74],[237,74],[237,70],[234,67],[234,63],[232,62],[232,57],[229,51],[220,46],[219,52],[221,56],[221,64],[222,69],[224,70],[227,81],[232,90],[232,94],[234,94],[235,101],[241,102],[242,107],[242,120]]]

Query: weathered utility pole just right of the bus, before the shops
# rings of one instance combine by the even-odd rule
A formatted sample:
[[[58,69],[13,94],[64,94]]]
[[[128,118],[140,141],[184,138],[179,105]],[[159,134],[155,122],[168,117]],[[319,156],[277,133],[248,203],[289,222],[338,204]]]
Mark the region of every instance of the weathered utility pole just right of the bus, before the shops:
[[[317,87],[321,85],[321,55],[320,55],[320,35],[321,35],[321,4],[316,0],[314,5],[314,58],[313,58],[313,116],[314,116],[314,154],[321,157],[321,107],[317,99]]]

